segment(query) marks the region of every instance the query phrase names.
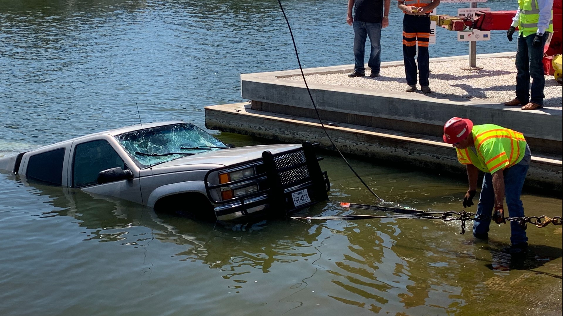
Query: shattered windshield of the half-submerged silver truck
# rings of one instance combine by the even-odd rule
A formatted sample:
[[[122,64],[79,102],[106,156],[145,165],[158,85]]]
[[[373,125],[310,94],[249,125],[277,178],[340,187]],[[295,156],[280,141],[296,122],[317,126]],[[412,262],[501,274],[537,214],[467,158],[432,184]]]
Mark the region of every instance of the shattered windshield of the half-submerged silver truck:
[[[228,148],[217,138],[189,123],[145,128],[119,134],[115,139],[140,168],[189,155]]]

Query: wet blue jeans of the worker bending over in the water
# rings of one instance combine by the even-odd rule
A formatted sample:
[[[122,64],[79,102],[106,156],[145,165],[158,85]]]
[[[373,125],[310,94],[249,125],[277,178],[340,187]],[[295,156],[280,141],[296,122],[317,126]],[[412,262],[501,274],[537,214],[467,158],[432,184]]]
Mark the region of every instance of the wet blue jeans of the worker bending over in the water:
[[[528,173],[529,165],[513,165],[504,170],[504,195],[508,206],[508,216],[524,216],[524,206],[520,200],[524,179]],[[494,207],[493,175],[485,173],[479,204],[477,204],[477,215],[492,215]],[[506,213],[504,214],[506,216]],[[473,234],[485,235],[489,232],[490,219],[475,220],[473,222]],[[510,222],[512,235],[510,241],[512,245],[527,242],[526,231],[522,229],[518,222]]]

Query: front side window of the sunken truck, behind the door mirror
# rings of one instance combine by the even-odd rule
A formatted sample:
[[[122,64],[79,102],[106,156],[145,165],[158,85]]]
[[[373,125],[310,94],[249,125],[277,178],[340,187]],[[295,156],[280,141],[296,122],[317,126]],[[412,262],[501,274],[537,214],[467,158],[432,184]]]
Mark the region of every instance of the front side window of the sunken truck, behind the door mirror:
[[[98,173],[110,168],[127,166],[108,141],[101,139],[76,146],[73,158],[73,187],[97,184]]]

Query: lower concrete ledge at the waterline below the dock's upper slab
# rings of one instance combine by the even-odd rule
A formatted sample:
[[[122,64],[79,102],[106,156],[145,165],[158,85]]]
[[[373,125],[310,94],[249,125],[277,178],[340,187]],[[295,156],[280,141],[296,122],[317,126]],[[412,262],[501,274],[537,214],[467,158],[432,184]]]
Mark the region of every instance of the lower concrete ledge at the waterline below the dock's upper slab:
[[[306,140],[332,149],[318,120],[251,109],[249,103],[205,107],[205,126],[225,132],[247,134],[282,142]],[[326,122],[325,128],[345,153],[374,157],[394,164],[464,173],[455,151],[439,137],[396,132],[347,123]],[[563,186],[563,162],[549,157],[532,157],[526,186],[559,192]],[[465,177],[462,175],[462,177]]]

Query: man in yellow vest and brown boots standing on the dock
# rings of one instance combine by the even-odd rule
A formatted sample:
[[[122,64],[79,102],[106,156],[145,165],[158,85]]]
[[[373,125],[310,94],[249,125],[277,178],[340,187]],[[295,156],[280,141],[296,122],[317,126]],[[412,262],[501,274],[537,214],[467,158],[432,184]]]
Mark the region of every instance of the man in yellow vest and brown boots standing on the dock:
[[[522,106],[522,110],[543,107],[543,47],[549,33],[553,33],[553,0],[519,0],[518,11],[506,37],[512,42],[512,34],[518,26],[516,48],[516,98],[504,102],[506,106]],[[531,83],[530,77],[534,81]],[[530,98],[531,96],[531,98]]]

